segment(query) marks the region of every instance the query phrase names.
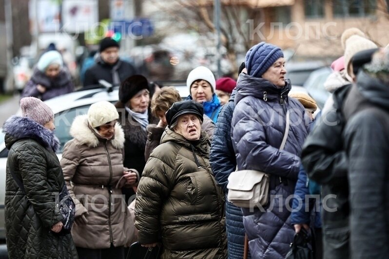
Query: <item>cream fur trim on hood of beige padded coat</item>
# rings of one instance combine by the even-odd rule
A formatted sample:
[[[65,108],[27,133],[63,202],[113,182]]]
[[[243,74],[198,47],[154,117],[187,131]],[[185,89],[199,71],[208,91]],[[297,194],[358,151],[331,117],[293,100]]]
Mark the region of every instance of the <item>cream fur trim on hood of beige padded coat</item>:
[[[88,116],[77,116],[70,127],[70,135],[82,144],[96,148],[100,142],[96,134],[88,126]],[[110,140],[116,149],[124,148],[124,132],[119,123],[115,124],[115,137]]]

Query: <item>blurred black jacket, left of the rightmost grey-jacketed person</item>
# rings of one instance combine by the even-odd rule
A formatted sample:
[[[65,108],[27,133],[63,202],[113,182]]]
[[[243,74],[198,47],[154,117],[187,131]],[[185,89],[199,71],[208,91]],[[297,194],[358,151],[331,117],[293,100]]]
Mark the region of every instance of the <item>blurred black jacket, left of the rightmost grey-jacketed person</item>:
[[[302,163],[310,179],[322,185],[322,196],[336,195],[326,200],[325,206],[336,211],[323,210],[322,221],[336,227],[348,224],[349,186],[348,160],[343,148],[342,131],[345,119],[342,104],[351,85],[333,93],[333,108],[322,114],[304,143]]]

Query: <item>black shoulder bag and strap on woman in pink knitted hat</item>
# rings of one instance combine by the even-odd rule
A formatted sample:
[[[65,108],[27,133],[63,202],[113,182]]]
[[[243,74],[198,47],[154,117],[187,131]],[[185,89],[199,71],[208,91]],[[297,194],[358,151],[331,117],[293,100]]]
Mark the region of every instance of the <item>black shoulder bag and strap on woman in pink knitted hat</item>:
[[[14,178],[16,184],[19,186],[20,190],[25,194],[26,190],[24,189],[23,182],[19,177],[15,175],[11,170],[9,171]],[[76,214],[76,204],[73,202],[73,199],[70,197],[69,191],[66,185],[62,186],[62,190],[59,192],[59,195],[56,197],[56,207],[61,213],[62,220],[62,229],[57,235],[66,235],[70,233],[72,229],[75,214]]]

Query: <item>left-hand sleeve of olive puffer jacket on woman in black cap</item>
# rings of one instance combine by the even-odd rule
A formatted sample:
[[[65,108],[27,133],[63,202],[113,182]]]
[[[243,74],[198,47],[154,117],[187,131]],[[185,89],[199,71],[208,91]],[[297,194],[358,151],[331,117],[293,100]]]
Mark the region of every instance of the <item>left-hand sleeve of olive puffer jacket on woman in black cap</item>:
[[[172,189],[175,179],[173,174],[174,169],[171,166],[151,154],[136,192],[135,226],[141,244],[158,241],[159,215],[164,200]]]

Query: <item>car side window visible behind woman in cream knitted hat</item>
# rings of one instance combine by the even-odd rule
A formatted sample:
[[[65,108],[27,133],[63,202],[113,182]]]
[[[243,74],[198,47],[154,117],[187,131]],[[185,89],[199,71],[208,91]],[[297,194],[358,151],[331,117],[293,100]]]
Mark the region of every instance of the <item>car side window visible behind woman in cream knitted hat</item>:
[[[55,125],[56,129],[54,133],[59,139],[59,143],[61,145],[58,153],[62,153],[63,146],[72,139],[70,135],[70,127],[72,126],[73,120],[76,116],[86,114],[88,112],[90,105],[84,105],[75,107],[66,111],[58,112],[55,115]]]

